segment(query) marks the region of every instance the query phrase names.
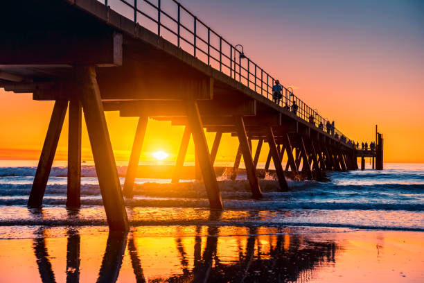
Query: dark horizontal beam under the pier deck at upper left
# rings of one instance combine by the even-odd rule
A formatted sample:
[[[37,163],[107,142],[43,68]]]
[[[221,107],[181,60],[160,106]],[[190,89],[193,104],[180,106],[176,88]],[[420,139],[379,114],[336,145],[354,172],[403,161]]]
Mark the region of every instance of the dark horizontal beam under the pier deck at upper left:
[[[39,21],[42,22],[42,21]],[[1,33],[1,67],[46,65],[122,65],[123,35],[106,28],[58,29],[37,24],[25,30]]]

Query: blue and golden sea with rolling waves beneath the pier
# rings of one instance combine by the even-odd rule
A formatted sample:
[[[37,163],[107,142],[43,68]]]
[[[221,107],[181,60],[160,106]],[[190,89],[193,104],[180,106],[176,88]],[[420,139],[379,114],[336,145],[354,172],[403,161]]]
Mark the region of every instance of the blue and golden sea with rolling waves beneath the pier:
[[[96,170],[82,166],[80,209],[66,209],[67,168],[53,166],[42,209],[28,209],[36,164],[0,163],[0,238],[27,237],[45,226],[107,225]],[[59,164],[61,165],[61,164]],[[62,164],[64,165],[64,164]],[[125,166],[118,172],[125,175]],[[219,176],[224,212],[208,209],[202,182],[137,178],[125,200],[132,225],[315,226],[424,231],[424,164],[385,164],[385,170],[330,172],[330,182],[288,180],[279,191],[273,176],[260,180],[263,198],[251,199],[245,175]],[[121,178],[123,184],[123,178]]]

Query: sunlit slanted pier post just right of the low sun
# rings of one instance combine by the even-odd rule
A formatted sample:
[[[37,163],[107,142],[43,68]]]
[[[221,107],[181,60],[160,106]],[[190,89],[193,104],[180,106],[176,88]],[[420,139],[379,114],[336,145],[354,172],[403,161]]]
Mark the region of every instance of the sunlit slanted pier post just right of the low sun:
[[[195,150],[197,158],[199,159],[200,169],[202,170],[204,187],[209,198],[209,204],[212,209],[222,209],[222,199],[220,195],[220,188],[216,180],[215,171],[211,163],[209,155],[209,148],[204,136],[202,120],[200,119],[199,108],[197,102],[194,100],[186,101],[186,110],[188,125],[190,126],[193,140],[195,142]]]

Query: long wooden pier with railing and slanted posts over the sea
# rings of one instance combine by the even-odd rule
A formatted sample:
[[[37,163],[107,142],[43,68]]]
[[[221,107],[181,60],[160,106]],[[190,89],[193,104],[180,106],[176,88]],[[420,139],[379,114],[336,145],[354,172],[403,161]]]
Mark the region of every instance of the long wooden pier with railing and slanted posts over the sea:
[[[0,4],[0,87],[32,92],[37,101],[55,101],[28,206],[42,206],[68,108],[67,205],[80,206],[83,112],[112,230],[128,229],[123,197],[132,195],[148,118],[186,127],[173,182],[179,180],[188,139],[193,136],[199,178],[213,209],[222,209],[213,163],[224,133],[238,137],[232,177],[236,178],[243,157],[252,198],[262,196],[256,166],[263,143],[270,146],[265,169],[272,160],[281,191],[290,189],[285,179],[290,174],[321,180],[326,171],[357,169],[357,157],[368,156],[342,132],[328,128],[327,120],[290,88],[283,87],[283,98],[274,103],[274,78],[178,2],[170,1],[175,17],[162,10],[160,0],[157,6],[148,2],[155,15],[121,2],[132,10],[130,15],[96,0]],[[193,26],[180,21],[182,12]],[[151,24],[141,26],[143,17]],[[123,191],[105,111],[139,118]],[[216,132],[211,151],[204,129]],[[254,153],[251,141],[255,139]],[[377,169],[382,169],[382,137],[380,144]],[[284,155],[287,164],[282,164]]]

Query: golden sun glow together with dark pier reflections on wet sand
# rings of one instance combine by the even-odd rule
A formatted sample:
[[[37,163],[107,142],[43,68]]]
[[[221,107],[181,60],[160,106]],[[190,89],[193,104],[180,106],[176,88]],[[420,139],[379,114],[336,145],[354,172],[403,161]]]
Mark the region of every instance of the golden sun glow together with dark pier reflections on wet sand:
[[[48,230],[39,228],[33,250],[41,281],[56,282],[55,274],[63,271],[51,262]],[[148,236],[156,232],[162,237]],[[98,259],[96,251],[85,259],[80,245],[86,236],[72,228],[67,231],[66,282],[91,282],[80,271],[102,255],[97,282],[309,282],[314,268],[335,261],[333,241],[311,241],[307,234],[290,232],[214,225],[138,227],[129,234],[109,232],[103,249],[91,247],[97,248]]]

